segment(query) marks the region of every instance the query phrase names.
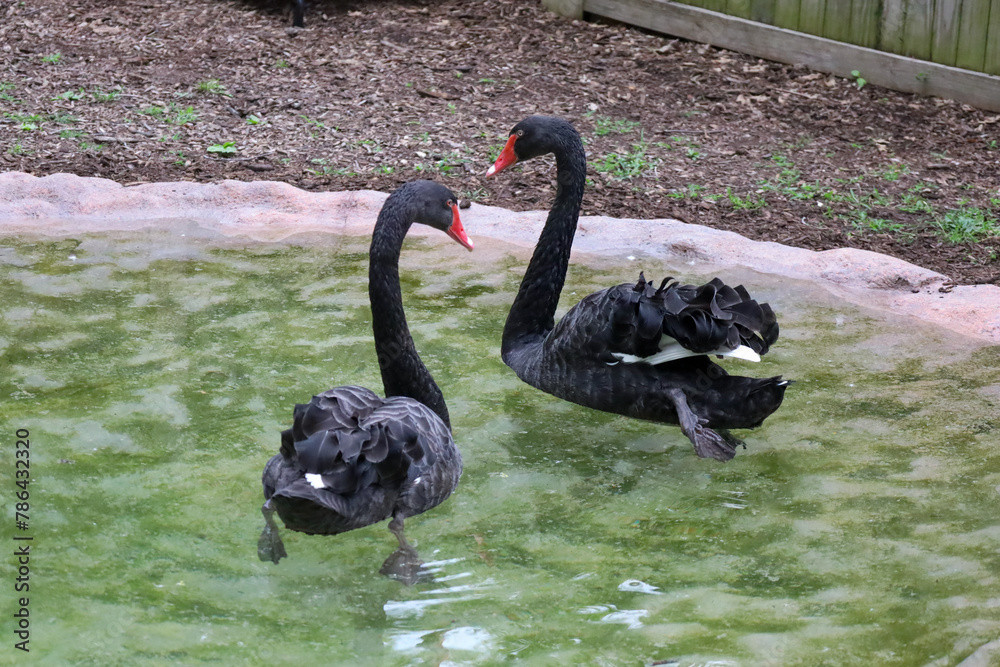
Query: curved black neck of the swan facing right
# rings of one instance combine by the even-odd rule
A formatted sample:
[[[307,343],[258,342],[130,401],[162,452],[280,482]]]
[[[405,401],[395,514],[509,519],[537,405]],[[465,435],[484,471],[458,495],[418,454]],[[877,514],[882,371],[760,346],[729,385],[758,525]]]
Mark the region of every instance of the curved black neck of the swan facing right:
[[[372,307],[375,352],[386,397],[408,396],[437,413],[451,428],[448,407],[431,373],[413,345],[399,289],[399,251],[412,214],[402,198],[390,197],[379,213],[368,265],[368,297]]]

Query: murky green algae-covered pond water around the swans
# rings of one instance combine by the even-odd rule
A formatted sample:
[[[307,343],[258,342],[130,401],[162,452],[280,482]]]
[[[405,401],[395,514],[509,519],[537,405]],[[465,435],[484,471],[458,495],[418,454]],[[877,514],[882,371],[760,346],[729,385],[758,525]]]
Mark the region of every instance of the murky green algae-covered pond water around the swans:
[[[466,462],[407,521],[435,580],[378,573],[385,524],[283,530],[289,557],[260,562],[293,405],[381,390],[366,251],[195,226],[4,241],[0,534],[33,540],[30,654],[7,595],[0,663],[943,666],[1000,637],[1000,349],[724,272],[782,326],[730,368],[797,383],[748,449],[705,461],[676,428],[520,383],[499,340],[523,261],[420,239],[407,315]],[[564,304],[640,264],[708,277],[575,265]]]

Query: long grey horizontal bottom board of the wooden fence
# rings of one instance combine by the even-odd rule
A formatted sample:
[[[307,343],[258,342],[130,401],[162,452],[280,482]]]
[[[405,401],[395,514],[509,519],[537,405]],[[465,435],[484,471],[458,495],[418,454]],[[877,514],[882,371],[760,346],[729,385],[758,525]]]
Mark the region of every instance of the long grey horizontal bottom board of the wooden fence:
[[[806,35],[667,0],[584,0],[584,11],[734,51],[850,76],[903,92],[957,99],[1000,111],[1000,77]],[[996,24],[1000,36],[1000,12]],[[1000,49],[1000,47],[994,47]]]

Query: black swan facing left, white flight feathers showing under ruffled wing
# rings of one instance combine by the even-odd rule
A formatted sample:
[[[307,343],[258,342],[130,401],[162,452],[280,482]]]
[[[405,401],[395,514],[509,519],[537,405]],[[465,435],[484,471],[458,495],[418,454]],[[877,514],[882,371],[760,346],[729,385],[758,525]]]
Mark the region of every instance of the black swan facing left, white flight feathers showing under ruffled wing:
[[[597,410],[678,424],[701,457],[728,461],[781,405],[787,380],[729,375],[708,355],[759,361],[778,338],[770,306],[718,278],[701,285],[639,274],[586,297],[554,321],[583,200],[587,162],[567,121],[530,116],[490,167],[553,153],[557,190],[503,330],[504,363],[528,384]]]

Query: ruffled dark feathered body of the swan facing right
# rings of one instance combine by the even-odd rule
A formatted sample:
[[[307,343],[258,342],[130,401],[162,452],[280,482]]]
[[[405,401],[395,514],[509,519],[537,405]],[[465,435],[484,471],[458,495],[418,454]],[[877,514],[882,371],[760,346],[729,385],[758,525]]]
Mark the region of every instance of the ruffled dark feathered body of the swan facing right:
[[[439,504],[454,490],[462,459],[451,432],[413,399],[383,399],[337,387],[295,406],[281,453],[264,472],[288,528],[336,534]],[[322,488],[312,478],[319,475]]]

